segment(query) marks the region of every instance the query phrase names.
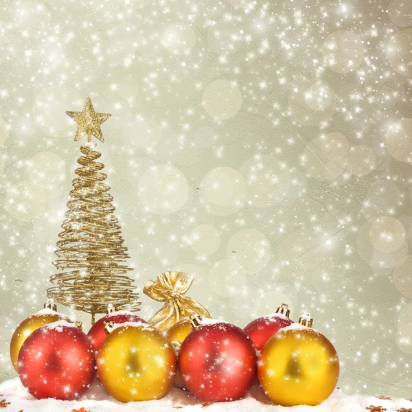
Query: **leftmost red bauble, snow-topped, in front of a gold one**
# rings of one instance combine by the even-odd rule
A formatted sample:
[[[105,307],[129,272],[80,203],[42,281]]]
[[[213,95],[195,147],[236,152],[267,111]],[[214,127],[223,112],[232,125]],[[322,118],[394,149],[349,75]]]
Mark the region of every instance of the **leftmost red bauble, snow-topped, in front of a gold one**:
[[[19,352],[19,376],[35,398],[74,400],[95,375],[93,347],[86,334],[67,321],[41,326]]]

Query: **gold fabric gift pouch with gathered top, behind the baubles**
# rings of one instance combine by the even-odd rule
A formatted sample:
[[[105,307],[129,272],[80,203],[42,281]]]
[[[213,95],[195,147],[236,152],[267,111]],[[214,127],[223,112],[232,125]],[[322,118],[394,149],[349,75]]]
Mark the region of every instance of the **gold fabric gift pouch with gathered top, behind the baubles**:
[[[161,331],[168,330],[174,323],[184,317],[200,314],[210,317],[209,312],[194,299],[185,296],[192,285],[194,277],[183,272],[165,272],[155,282],[149,280],[143,293],[157,301],[165,302],[149,323]]]

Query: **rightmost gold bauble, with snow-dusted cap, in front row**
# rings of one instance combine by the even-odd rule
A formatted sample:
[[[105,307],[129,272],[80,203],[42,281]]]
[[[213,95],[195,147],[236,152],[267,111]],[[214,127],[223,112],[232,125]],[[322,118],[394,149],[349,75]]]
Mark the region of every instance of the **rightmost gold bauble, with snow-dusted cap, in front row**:
[[[260,352],[258,377],[266,395],[283,407],[315,406],[326,400],[339,378],[332,343],[312,329],[310,314],[269,339]]]

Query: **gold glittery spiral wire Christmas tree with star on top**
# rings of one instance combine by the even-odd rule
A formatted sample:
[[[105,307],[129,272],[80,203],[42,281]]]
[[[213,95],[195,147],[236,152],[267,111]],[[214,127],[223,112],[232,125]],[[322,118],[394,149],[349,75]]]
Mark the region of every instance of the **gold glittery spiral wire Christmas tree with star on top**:
[[[60,304],[95,314],[105,313],[108,304],[128,310],[139,310],[139,295],[133,280],[125,274],[132,268],[126,265],[129,258],[124,246],[119,221],[113,214],[113,197],[104,183],[103,163],[96,161],[101,154],[93,150],[94,136],[104,141],[100,124],[111,115],[95,113],[90,98],[82,112],[66,112],[78,123],[75,141],[87,135],[88,143],[80,147],[82,156],[78,175],[73,180],[69,210],[59,234],[55,251],[58,269],[50,281],[56,286],[47,290],[47,296]]]

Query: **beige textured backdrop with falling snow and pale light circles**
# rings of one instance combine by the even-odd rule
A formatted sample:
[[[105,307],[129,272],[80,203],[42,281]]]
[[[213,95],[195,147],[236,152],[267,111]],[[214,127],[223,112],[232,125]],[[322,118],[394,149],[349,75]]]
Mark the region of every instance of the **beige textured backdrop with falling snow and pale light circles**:
[[[0,379],[45,301],[79,148],[65,111],[90,95],[113,113],[98,149],[139,290],[187,271],[241,326],[287,301],[336,345],[345,391],[410,398],[411,9],[1,1]]]

